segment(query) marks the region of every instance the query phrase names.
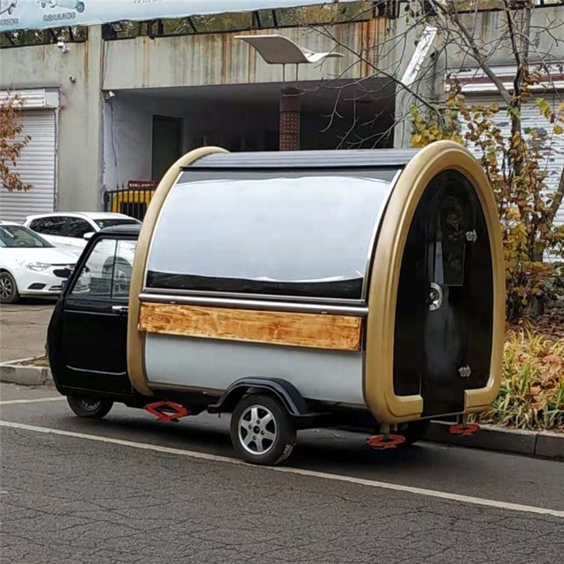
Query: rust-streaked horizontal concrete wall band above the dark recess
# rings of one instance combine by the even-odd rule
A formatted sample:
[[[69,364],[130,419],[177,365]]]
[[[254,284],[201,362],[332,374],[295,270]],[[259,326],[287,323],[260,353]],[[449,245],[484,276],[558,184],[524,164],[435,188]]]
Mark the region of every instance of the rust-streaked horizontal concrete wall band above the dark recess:
[[[383,42],[396,32],[396,22],[379,18],[362,23],[337,25],[331,31],[338,42],[355,53]],[[301,80],[363,78],[371,75],[371,66],[357,62],[347,49],[338,47],[320,32],[305,28],[261,30],[261,34],[281,33],[316,52],[338,50],[342,59],[328,59],[321,66],[300,65]],[[184,35],[177,37],[136,37],[107,42],[104,89],[155,88],[219,84],[279,82],[280,65],[268,65],[255,49],[235,39],[237,33]],[[376,51],[373,51],[374,53]],[[128,64],[123,64],[128,61]],[[353,64],[355,63],[355,64]],[[379,64],[388,66],[389,61]],[[287,80],[293,80],[295,67],[287,68]]]

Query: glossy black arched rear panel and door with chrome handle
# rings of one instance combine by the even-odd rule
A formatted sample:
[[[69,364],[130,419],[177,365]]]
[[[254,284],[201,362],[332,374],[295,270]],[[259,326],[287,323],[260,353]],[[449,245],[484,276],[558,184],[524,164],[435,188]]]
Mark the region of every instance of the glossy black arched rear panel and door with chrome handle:
[[[431,181],[407,236],[394,333],[394,391],[423,416],[460,413],[489,377],[493,282],[486,221],[456,171]]]

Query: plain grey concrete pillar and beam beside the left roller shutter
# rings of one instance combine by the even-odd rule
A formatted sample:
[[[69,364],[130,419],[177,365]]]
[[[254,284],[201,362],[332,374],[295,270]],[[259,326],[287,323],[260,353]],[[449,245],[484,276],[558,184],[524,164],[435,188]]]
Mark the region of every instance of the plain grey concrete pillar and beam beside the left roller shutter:
[[[0,89],[57,87],[59,113],[58,208],[98,208],[101,134],[102,42],[100,27],[89,29],[87,43],[2,49]],[[73,83],[69,77],[74,76]]]

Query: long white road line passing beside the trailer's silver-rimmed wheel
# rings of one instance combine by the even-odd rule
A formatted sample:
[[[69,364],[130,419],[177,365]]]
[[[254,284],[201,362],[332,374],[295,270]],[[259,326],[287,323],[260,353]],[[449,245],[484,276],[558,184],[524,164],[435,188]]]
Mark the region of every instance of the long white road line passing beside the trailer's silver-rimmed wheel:
[[[34,425],[26,425],[23,423],[13,423],[8,421],[0,421],[0,427],[8,427],[10,429],[22,429],[24,431],[35,431],[37,433],[54,434],[62,436],[72,436],[77,439],[87,439],[89,441],[99,441],[101,443],[111,443],[131,448],[142,448],[144,450],[154,450],[157,453],[167,453],[189,458],[199,458],[201,460],[210,460],[212,462],[228,462],[235,465],[247,465],[243,460],[229,458],[228,456],[220,456],[208,453],[198,453],[195,450],[183,450],[181,448],[171,448],[169,446],[159,446],[150,443],[137,443],[135,441],[124,441],[123,439],[112,439],[107,436],[87,435],[85,433],[75,433],[74,431],[63,431],[62,429],[49,429],[48,427],[35,427]],[[316,472],[315,470],[302,470],[301,468],[282,467],[282,466],[263,466],[264,470],[273,472],[283,472],[286,474],[300,474],[312,478],[321,478],[327,480],[335,480],[336,482],[347,482],[360,486],[369,486],[372,488],[388,489],[393,491],[403,491],[407,494],[416,494],[418,496],[427,496],[431,498],[445,499],[447,501],[459,501],[460,503],[470,503],[471,505],[483,505],[496,509],[504,509],[509,511],[519,511],[521,513],[538,513],[539,515],[551,515],[564,519],[564,511],[556,509],[548,509],[542,507],[534,507],[533,505],[521,505],[520,503],[508,503],[505,501],[497,501],[494,499],[476,498],[473,496],[462,496],[460,494],[450,494],[447,491],[437,491],[433,489],[417,488],[414,486],[405,486],[403,484],[391,484],[389,482],[379,482],[377,480],[369,480],[364,478],[355,478],[352,476],[342,476],[340,474],[329,474],[327,472]]]

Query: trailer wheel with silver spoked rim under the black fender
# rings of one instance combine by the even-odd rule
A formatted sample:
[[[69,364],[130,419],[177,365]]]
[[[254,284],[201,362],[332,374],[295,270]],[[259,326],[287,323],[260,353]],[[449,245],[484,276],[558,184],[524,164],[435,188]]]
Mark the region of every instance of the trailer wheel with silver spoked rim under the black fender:
[[[252,416],[255,407],[259,419],[251,422],[251,419],[246,417]],[[268,415],[271,415],[271,419],[265,422]],[[263,417],[262,421],[260,417]],[[243,424],[245,421],[248,421],[248,424]],[[253,427],[248,429],[250,425]],[[231,442],[243,460],[264,466],[279,464],[292,453],[295,435],[295,423],[278,399],[262,393],[252,393],[235,405],[231,415]],[[250,437],[250,442],[246,441],[247,436]],[[270,439],[270,436],[273,438]],[[256,441],[253,440],[255,437]]]

